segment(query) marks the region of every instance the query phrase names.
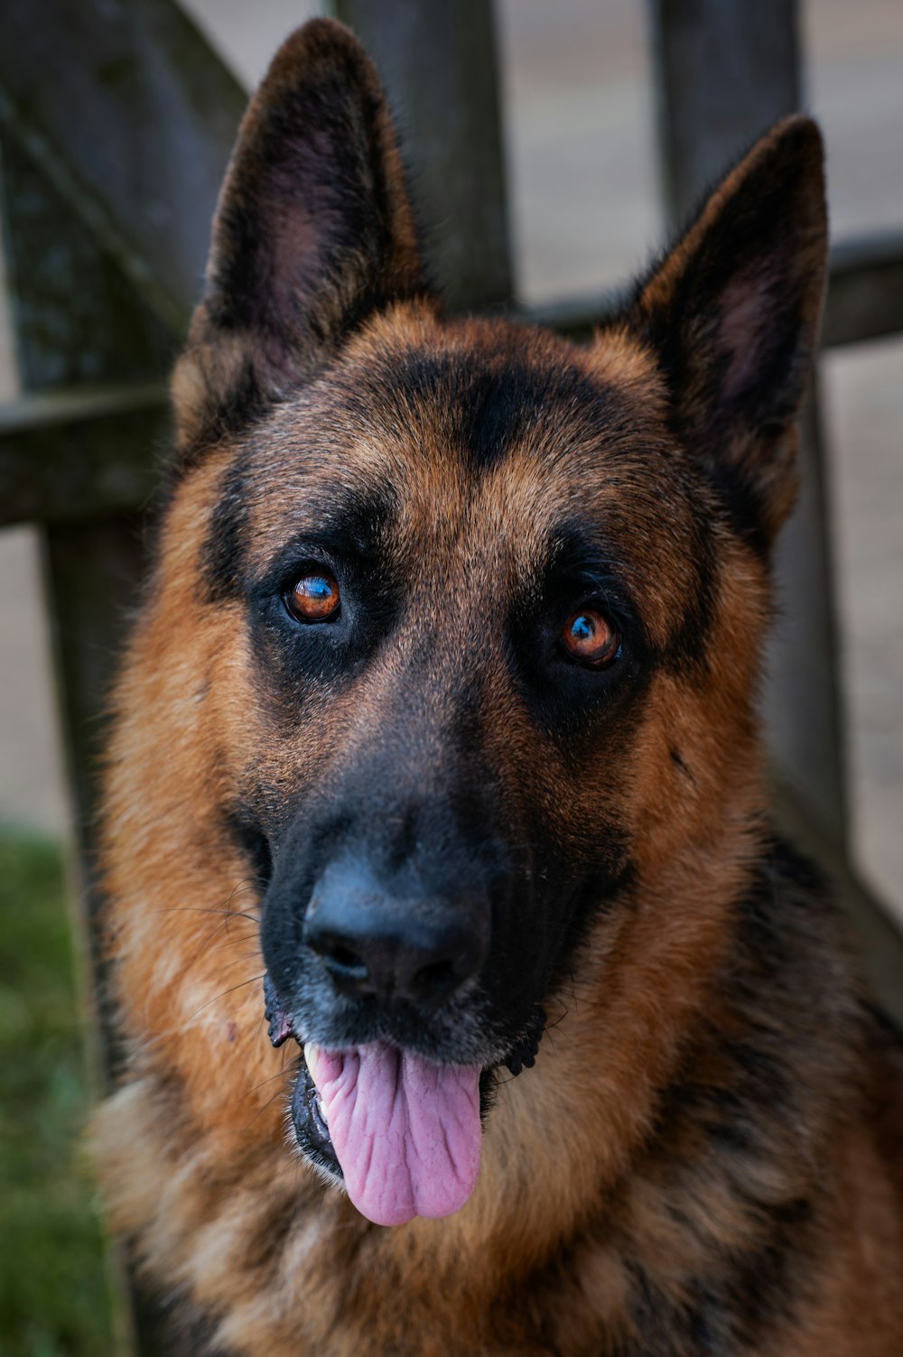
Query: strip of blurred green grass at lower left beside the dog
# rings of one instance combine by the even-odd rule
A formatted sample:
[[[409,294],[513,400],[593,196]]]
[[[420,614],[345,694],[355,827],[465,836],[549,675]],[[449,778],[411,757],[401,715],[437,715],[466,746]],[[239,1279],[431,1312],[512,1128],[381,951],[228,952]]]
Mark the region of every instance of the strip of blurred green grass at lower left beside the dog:
[[[106,1357],[103,1227],[62,862],[0,835],[0,1354]]]

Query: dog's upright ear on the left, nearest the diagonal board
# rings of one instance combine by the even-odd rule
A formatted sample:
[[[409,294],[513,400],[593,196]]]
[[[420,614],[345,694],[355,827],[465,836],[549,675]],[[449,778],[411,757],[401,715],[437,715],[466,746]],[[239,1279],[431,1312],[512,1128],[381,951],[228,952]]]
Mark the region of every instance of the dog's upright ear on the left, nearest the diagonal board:
[[[182,464],[296,388],[373,311],[426,293],[376,69],[342,24],[280,47],[220,193],[172,377]]]

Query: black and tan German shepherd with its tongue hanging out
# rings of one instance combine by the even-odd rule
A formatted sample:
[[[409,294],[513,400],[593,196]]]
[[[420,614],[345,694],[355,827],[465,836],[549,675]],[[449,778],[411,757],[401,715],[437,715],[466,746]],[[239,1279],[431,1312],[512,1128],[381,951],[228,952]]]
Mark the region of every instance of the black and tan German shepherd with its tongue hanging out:
[[[445,319],[369,60],[278,52],[107,771],[174,1350],[903,1353],[903,1083],[756,715],[824,274],[794,117],[587,346]]]

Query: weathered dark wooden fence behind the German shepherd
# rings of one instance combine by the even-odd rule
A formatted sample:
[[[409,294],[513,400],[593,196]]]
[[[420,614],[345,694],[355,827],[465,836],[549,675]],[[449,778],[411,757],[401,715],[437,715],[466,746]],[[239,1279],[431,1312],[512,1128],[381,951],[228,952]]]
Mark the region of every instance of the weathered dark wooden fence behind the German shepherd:
[[[679,220],[800,104],[794,0],[648,0],[665,214]],[[403,110],[433,267],[458,309],[511,308],[497,43],[487,0],[334,0]],[[166,373],[200,286],[246,95],[172,0],[0,5],[0,214],[22,395],[0,407],[0,524],[39,527],[94,958],[92,769],[143,528],[166,449]],[[454,110],[454,117],[449,111]],[[444,224],[444,225],[443,225]],[[535,315],[581,335],[606,296]],[[839,242],[823,345],[903,331],[903,231]],[[842,703],[817,377],[803,494],[781,546],[793,645],[767,715],[782,817],[834,871],[884,1006],[903,1020],[903,942],[847,852]],[[100,1001],[102,1010],[102,1001]],[[103,1019],[103,1014],[100,1012]],[[102,1020],[100,1065],[110,1069]],[[153,1349],[149,1319],[140,1350]]]

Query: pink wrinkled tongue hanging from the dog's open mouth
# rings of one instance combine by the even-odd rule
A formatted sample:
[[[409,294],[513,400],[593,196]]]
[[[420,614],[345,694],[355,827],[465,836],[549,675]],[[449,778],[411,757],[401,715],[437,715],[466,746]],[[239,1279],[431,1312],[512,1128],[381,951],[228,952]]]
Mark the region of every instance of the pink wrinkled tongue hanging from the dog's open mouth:
[[[479,1067],[387,1042],[304,1048],[348,1196],[376,1225],[460,1210],[479,1171]]]

